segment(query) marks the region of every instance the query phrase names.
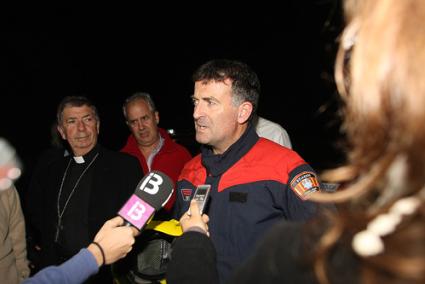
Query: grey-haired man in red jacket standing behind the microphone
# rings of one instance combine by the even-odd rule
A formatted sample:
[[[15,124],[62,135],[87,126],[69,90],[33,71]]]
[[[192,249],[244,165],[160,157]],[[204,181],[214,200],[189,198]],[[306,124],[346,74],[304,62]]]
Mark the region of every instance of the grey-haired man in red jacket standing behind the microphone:
[[[136,156],[145,173],[161,171],[175,184],[183,166],[191,159],[191,154],[158,127],[159,113],[151,96],[148,93],[130,96],[124,102],[123,113],[131,134],[121,151]],[[171,212],[175,200],[174,191],[164,206],[166,212]]]

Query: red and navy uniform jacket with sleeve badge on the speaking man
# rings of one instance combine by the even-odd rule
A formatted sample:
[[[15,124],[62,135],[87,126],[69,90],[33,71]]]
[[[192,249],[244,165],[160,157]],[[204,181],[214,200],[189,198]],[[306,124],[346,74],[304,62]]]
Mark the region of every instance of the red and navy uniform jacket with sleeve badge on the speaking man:
[[[208,147],[201,151],[180,174],[174,217],[188,210],[198,185],[211,185],[205,213],[220,282],[225,282],[273,224],[315,214],[317,205],[306,199],[319,190],[319,182],[296,152],[259,138],[252,126],[221,155]]]

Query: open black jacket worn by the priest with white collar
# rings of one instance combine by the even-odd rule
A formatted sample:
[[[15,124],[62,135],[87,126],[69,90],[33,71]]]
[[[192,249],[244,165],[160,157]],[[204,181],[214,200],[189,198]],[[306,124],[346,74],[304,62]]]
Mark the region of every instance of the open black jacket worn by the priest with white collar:
[[[135,191],[143,177],[138,160],[128,154],[110,151],[97,145],[99,156],[93,163],[93,174],[88,201],[88,239],[92,240],[104,222],[117,216],[117,212]],[[41,267],[57,264],[50,253],[53,250],[57,224],[57,198],[65,169],[72,156],[52,162],[42,175],[40,187],[29,192],[27,204],[28,221],[36,236],[35,243],[41,247]],[[84,177],[83,177],[84,179]],[[37,191],[37,192],[36,192]],[[88,244],[87,244],[88,245]]]

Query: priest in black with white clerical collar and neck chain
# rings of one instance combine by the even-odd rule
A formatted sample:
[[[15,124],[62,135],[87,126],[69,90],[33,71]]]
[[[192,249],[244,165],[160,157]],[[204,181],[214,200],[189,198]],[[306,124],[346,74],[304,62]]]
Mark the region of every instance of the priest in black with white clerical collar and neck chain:
[[[66,97],[58,106],[58,131],[71,155],[51,163],[28,212],[40,248],[41,267],[57,265],[87,245],[103,223],[136,189],[143,176],[136,158],[97,143],[99,115],[85,97]],[[88,283],[112,283],[104,267]]]

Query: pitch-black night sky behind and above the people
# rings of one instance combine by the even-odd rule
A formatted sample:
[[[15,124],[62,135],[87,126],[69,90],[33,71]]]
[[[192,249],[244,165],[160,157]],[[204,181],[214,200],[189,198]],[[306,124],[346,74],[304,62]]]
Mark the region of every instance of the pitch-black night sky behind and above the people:
[[[66,95],[85,94],[95,102],[99,139],[108,148],[125,143],[121,105],[136,91],[154,97],[161,127],[190,139],[191,74],[214,58],[241,60],[257,72],[259,114],[280,123],[313,167],[320,171],[340,161],[332,79],[339,1],[293,0],[267,8],[247,2],[232,9],[163,5],[3,11],[0,136],[23,161],[22,187],[49,147],[56,106]]]

